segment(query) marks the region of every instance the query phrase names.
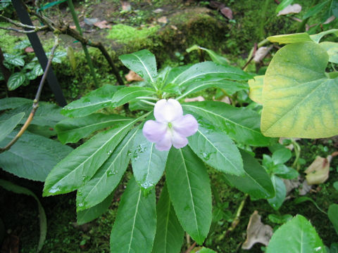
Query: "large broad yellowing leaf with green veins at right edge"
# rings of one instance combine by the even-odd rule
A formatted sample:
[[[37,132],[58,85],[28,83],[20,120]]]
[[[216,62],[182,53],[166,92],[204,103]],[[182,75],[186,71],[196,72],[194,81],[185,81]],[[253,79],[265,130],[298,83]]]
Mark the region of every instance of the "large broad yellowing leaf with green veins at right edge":
[[[328,56],[314,42],[284,46],[265,73],[265,136],[325,138],[338,134],[338,78],[325,75]]]

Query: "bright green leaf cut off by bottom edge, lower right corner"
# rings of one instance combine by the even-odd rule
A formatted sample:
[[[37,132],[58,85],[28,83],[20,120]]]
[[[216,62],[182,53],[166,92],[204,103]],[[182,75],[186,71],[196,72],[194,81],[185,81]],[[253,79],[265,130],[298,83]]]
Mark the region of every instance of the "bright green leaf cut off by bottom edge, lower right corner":
[[[280,226],[271,238],[267,253],[326,253],[325,246],[315,228],[303,216],[297,215]]]

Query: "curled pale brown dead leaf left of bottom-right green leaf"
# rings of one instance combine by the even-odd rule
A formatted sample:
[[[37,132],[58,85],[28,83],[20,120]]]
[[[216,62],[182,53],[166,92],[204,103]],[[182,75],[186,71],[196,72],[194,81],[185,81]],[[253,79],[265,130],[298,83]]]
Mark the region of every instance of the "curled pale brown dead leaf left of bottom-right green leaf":
[[[267,246],[271,236],[273,235],[273,228],[261,222],[261,215],[255,211],[250,216],[248,226],[246,228],[246,240],[242,244],[242,249],[251,249],[251,247],[260,242]]]

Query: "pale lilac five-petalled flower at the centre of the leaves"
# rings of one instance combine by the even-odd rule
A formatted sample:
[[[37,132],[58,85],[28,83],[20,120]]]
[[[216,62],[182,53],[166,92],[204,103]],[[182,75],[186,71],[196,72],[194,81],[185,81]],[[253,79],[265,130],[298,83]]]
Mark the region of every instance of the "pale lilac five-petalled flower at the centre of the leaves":
[[[177,100],[169,98],[158,100],[154,107],[154,120],[148,120],[143,126],[143,135],[158,150],[183,148],[188,144],[188,136],[192,136],[199,128],[192,115],[183,115],[182,106]]]

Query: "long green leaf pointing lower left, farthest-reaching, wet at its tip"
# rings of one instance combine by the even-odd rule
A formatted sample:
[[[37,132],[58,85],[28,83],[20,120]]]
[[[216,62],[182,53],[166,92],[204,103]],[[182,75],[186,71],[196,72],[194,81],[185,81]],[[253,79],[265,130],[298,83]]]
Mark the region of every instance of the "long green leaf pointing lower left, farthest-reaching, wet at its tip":
[[[44,196],[69,193],[83,186],[111,156],[135,122],[137,119],[96,134],[56,164],[44,184]]]

